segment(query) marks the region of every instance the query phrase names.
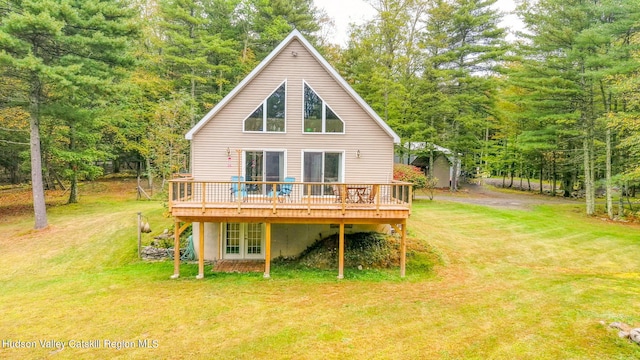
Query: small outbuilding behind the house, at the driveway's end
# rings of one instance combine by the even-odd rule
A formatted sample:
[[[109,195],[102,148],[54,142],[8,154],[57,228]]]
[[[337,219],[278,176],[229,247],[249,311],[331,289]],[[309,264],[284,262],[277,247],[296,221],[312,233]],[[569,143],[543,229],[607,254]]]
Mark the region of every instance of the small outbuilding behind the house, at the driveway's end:
[[[450,187],[454,175],[456,181],[459,181],[461,174],[460,154],[454,156],[453,151],[426,142],[409,142],[404,144],[404,148],[408,150],[404,152],[406,158],[396,157],[396,162],[404,163],[406,161],[407,164],[422,169],[425,175],[429,174],[429,166],[433,164],[431,174],[438,179],[437,188]]]

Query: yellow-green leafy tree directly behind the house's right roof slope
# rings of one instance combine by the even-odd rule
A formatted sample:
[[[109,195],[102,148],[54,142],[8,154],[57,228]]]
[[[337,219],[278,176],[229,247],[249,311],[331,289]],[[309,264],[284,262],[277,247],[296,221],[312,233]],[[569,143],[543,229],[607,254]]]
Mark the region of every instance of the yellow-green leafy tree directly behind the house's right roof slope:
[[[428,84],[420,79],[423,66],[419,39],[424,26],[426,3],[417,0],[372,2],[377,15],[351,29],[347,49],[338,70],[354,89],[402,138],[410,152],[411,141],[424,138],[420,106]]]

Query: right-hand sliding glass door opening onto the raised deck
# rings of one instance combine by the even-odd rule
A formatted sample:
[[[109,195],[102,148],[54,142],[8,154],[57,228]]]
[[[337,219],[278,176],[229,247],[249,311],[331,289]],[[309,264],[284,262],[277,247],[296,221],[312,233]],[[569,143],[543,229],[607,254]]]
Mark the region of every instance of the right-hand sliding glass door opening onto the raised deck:
[[[342,181],[341,152],[306,151],[303,166],[304,182],[336,183]],[[330,185],[313,185],[311,186],[311,195],[331,194],[330,188]],[[305,187],[305,195],[309,195],[307,187]]]

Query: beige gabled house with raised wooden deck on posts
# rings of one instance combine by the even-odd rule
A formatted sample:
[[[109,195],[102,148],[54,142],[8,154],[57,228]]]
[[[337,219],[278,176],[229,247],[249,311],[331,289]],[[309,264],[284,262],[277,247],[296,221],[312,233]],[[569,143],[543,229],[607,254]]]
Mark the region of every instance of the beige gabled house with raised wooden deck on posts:
[[[199,260],[295,256],[320,236],[393,227],[411,184],[393,181],[398,135],[294,30],[187,134],[191,174],[170,182],[175,241],[190,223]],[[345,228],[347,230],[345,230]],[[176,255],[179,255],[176,246]],[[179,276],[175,256],[173,277]]]

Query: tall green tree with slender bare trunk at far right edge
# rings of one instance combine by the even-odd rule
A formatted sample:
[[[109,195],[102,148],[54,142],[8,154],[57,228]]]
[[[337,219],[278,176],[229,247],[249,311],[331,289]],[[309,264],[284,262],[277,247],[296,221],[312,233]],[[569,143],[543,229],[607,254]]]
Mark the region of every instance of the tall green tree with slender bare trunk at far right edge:
[[[622,105],[608,80],[637,69],[630,39],[637,32],[640,10],[635,1],[524,2],[521,14],[531,32],[523,63],[529,69],[532,114],[556,120],[582,142],[586,212],[595,213],[597,143],[610,143],[604,124]],[[521,77],[524,78],[524,77]],[[610,168],[610,156],[607,167]],[[607,179],[610,184],[610,178]],[[611,209],[608,186],[608,204]]]

